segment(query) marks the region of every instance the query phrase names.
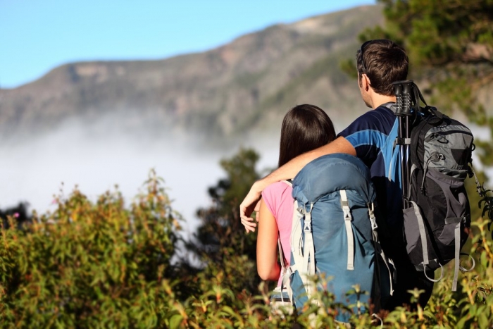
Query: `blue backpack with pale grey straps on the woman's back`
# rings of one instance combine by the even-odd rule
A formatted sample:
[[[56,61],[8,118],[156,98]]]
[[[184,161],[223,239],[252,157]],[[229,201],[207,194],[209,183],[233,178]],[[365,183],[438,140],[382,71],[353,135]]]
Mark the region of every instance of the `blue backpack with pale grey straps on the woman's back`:
[[[392,294],[392,261],[378,241],[370,170],[349,154],[321,156],[294,178],[292,196],[291,262],[283,277],[292,304],[300,310],[315,289],[324,289],[310,278],[319,275],[331,278],[326,289],[336,303],[355,313],[358,302],[379,309],[380,297]],[[354,285],[366,294],[348,295]],[[349,316],[339,309],[336,320]]]

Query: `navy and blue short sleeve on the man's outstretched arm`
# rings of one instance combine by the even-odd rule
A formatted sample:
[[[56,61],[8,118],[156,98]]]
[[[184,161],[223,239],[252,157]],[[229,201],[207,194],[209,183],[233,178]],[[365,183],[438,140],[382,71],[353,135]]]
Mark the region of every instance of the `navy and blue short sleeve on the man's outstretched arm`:
[[[356,156],[368,166],[375,161],[380,147],[387,139],[384,131],[381,118],[372,110],[354,120],[348,128],[339,132],[337,137],[347,139],[356,150]]]

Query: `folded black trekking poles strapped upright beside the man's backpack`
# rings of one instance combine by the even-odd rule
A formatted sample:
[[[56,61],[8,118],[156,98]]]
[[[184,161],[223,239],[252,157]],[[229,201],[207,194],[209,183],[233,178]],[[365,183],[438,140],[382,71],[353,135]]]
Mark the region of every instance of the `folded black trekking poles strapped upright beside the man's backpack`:
[[[408,190],[409,190],[409,144],[411,144],[411,128],[409,127],[409,118],[411,117],[412,108],[412,87],[413,80],[403,80],[393,82],[396,97],[397,111],[396,116],[399,118],[399,132],[397,135],[397,144],[401,151],[401,185],[402,185],[402,202],[404,209],[409,207]]]

